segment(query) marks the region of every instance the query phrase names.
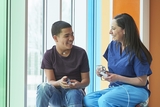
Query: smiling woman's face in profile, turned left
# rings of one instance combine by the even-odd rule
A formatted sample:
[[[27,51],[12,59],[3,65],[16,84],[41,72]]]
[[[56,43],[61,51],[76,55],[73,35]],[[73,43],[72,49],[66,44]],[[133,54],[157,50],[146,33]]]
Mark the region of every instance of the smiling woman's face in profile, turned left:
[[[118,42],[123,42],[125,30],[118,26],[116,19],[112,20],[111,30],[109,34],[112,35],[112,39]]]

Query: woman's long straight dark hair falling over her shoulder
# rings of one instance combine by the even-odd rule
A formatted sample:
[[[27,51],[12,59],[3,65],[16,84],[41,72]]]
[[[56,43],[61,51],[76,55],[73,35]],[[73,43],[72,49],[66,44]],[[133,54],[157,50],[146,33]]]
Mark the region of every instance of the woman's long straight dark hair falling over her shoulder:
[[[140,40],[138,28],[134,19],[127,13],[122,13],[114,17],[119,27],[125,30],[123,45],[128,47],[127,53],[130,54],[130,58],[132,52],[136,54],[138,59],[143,63],[145,60],[142,57],[142,51],[144,52],[147,61],[149,64],[152,62],[152,56],[148,49],[144,46],[144,44]],[[142,50],[142,51],[141,51]],[[129,58],[129,59],[130,59]]]

